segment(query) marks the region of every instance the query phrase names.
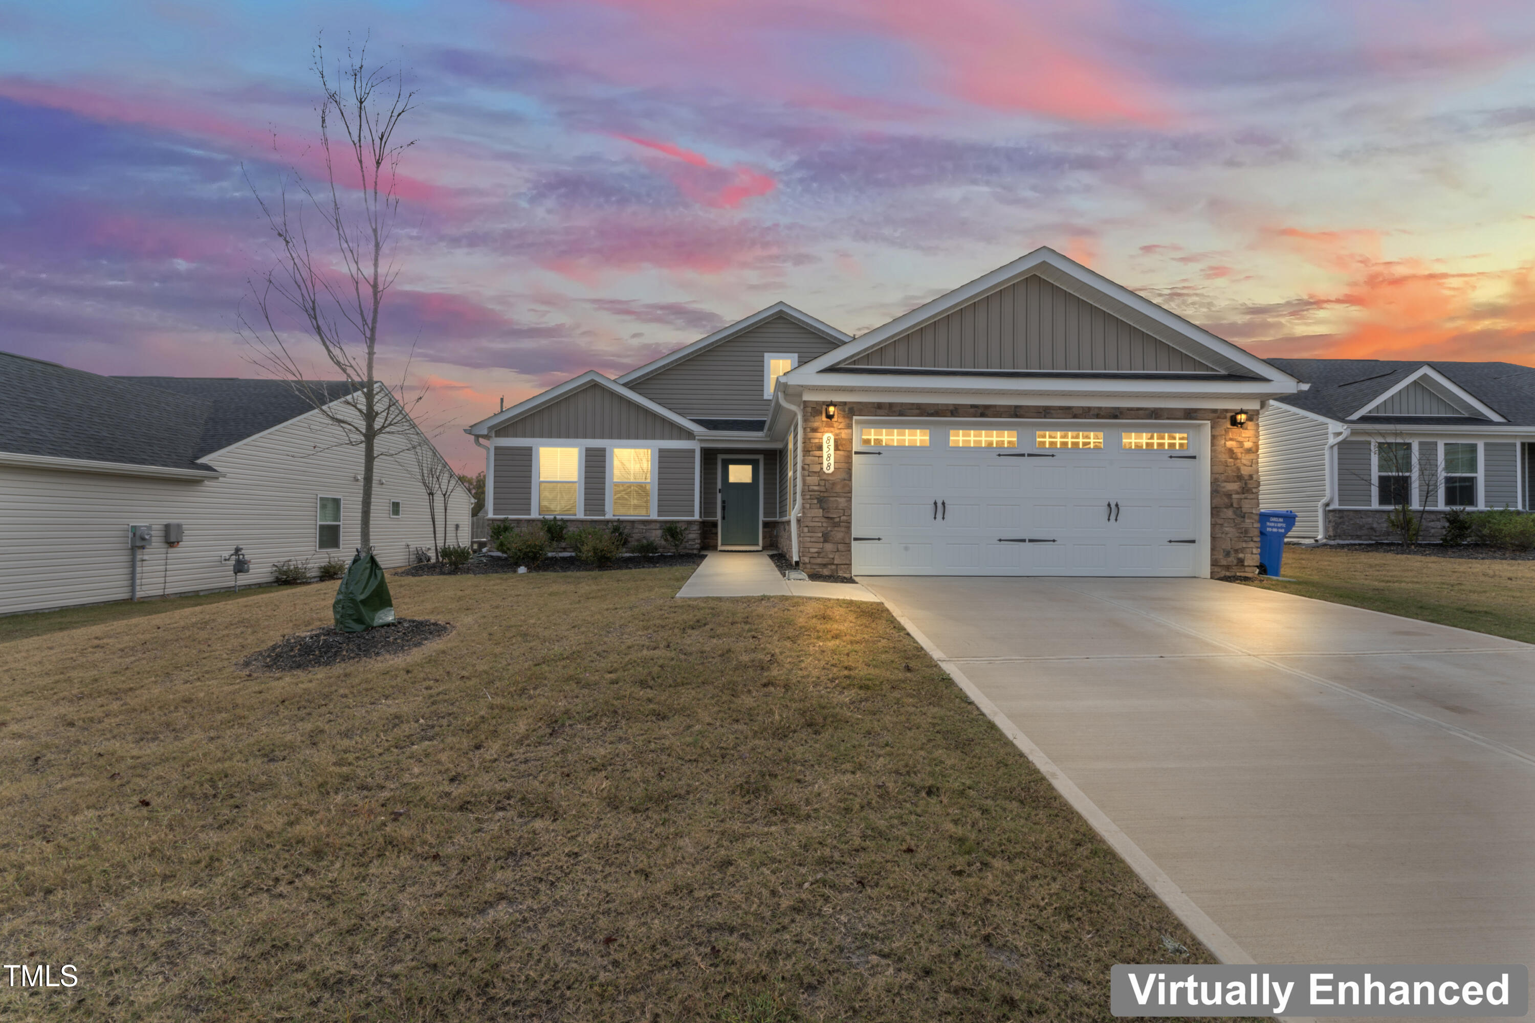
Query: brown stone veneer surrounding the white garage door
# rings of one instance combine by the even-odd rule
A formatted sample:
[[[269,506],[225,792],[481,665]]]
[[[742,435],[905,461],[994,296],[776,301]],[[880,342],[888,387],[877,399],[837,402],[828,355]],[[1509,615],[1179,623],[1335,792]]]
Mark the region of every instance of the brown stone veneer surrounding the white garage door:
[[[824,402],[806,402],[800,515],[800,567],[826,575],[853,574],[853,416],[912,419],[1167,419],[1207,420],[1210,426],[1210,572],[1257,572],[1257,416],[1231,426],[1230,410],[1121,408],[1067,405],[919,405],[837,402],[826,420]],[[837,437],[837,471],[821,472],[821,434]]]

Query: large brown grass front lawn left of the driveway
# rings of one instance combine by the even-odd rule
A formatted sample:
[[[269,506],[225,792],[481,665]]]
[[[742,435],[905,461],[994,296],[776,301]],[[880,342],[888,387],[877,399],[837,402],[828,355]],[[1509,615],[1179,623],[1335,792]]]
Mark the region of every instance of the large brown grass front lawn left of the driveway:
[[[0,646],[0,952],[81,977],[0,1017],[1107,1020],[1211,962],[881,606],[685,578],[391,578],[456,632],[312,673],[236,666],[328,586]]]

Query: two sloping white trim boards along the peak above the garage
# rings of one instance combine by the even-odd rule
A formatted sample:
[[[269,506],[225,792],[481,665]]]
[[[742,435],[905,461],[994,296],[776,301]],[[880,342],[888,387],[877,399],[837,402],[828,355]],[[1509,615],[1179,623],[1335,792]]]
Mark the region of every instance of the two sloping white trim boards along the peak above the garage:
[[[1015,259],[1013,262],[1004,267],[998,267],[996,270],[984,276],[979,276],[975,281],[961,285],[953,291],[949,291],[947,294],[941,294],[939,298],[933,299],[932,302],[927,302],[926,305],[919,305],[903,316],[896,316],[889,324],[884,324],[883,327],[875,327],[873,330],[863,334],[861,337],[858,337],[858,340],[849,345],[844,345],[841,348],[834,348],[832,351],[817,359],[812,359],[810,362],[807,362],[806,365],[800,367],[795,371],[798,374],[798,379],[792,379],[795,374],[791,374],[791,383],[800,383],[800,385],[807,383],[812,374],[817,374],[821,370],[829,370],[835,365],[841,365],[849,359],[855,359],[860,354],[872,351],[873,348],[878,348],[880,345],[893,340],[901,334],[910,333],[912,330],[916,330],[918,327],[923,327],[962,305],[969,305],[970,302],[985,296],[990,291],[1007,287],[1015,281],[1021,281],[1030,276],[1032,273],[1036,273],[1041,265],[1053,267],[1055,270],[1070,278],[1074,278],[1081,284],[1090,288],[1096,288],[1098,291],[1102,291],[1107,298],[1111,298],[1124,305],[1128,305],[1136,313],[1141,313],[1142,316],[1156,321],[1162,327],[1173,330],[1174,333],[1188,339],[1194,345],[1208,348],[1230,359],[1231,362],[1253,373],[1257,373],[1269,385],[1274,383],[1288,385],[1283,388],[1282,393],[1291,393],[1299,390],[1297,388],[1299,380],[1285,373],[1283,370],[1280,370],[1279,367],[1269,365],[1268,362],[1263,362],[1257,356],[1239,348],[1230,340],[1217,337],[1216,334],[1211,334],[1208,330],[1190,324],[1182,316],[1170,313],[1156,302],[1151,302],[1136,294],[1130,288],[1114,284],[1108,278],[1104,278],[1098,273],[1093,273],[1082,264],[1076,262],[1074,259],[1062,256],[1048,245],[1041,245],[1032,253],[1019,259]],[[1197,357],[1196,353],[1188,353],[1188,354]],[[1273,390],[1273,387],[1269,390]]]

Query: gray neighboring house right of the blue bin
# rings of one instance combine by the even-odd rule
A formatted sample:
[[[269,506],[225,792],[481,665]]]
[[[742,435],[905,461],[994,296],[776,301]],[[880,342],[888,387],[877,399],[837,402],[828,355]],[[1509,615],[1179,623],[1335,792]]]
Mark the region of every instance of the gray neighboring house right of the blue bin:
[[[1294,538],[1394,538],[1394,506],[1532,506],[1535,370],[1510,362],[1269,359],[1309,383],[1259,420],[1265,508],[1296,512]]]

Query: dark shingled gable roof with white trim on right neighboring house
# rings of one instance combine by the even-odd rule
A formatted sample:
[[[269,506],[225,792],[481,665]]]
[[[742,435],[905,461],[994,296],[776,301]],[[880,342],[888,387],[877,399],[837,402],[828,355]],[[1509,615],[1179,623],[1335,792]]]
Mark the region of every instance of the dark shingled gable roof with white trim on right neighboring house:
[[[1535,426],[1535,370],[1512,362],[1421,362],[1386,359],[1271,359],[1311,388],[1276,400],[1340,423]],[[1432,390],[1463,416],[1380,414],[1372,410],[1414,383]]]

